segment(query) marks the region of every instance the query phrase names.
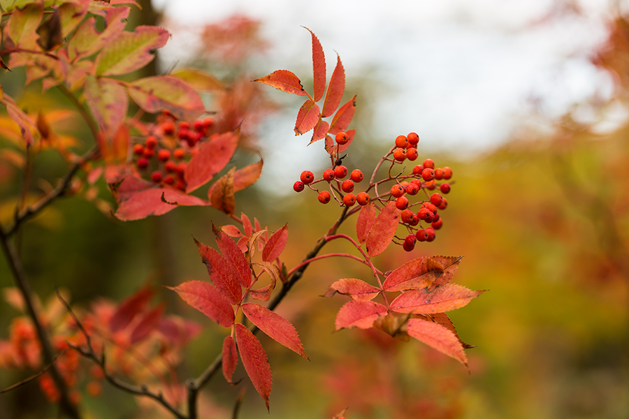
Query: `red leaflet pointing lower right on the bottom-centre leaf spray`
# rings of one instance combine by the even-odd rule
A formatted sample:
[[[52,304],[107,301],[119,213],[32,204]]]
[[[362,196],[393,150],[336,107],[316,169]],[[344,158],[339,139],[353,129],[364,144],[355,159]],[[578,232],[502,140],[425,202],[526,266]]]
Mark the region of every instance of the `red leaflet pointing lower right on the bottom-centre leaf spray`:
[[[245,302],[240,307],[243,308],[243,313],[251,323],[266,333],[268,337],[298,353],[303,358],[310,359],[303,350],[301,339],[299,339],[294,325],[287,319],[253,302]]]

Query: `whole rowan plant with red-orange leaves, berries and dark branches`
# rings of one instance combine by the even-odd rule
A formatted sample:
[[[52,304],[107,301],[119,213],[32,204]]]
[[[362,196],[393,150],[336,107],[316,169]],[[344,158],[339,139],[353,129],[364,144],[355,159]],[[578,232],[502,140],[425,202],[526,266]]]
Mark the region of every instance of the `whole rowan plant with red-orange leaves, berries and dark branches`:
[[[447,208],[443,195],[454,185],[449,181],[452,170],[436,166],[431,159],[406,169],[419,156],[416,133],[393,139],[370,176],[345,167],[343,159],[360,141],[356,129],[349,128],[356,95],[345,98],[345,71],[339,57],[327,80],[323,48],[308,29],[312,92],[305,91],[298,76],[287,70],[254,80],[305,96],[294,133],[312,131],[309,149],[321,145],[330,159],[321,177],[306,170],[294,189],[314,191],[319,203],[336,203],[326,210],[338,211],[338,219],[310,249],[304,249],[301,263],[287,265],[288,226],[273,231],[245,210],[236,214],[236,193],[252,186],[263,170],[261,158],[243,167],[231,164],[237,150],[250,148],[240,147],[247,113],[238,105],[238,100],[249,96],[233,96],[245,89],[226,89],[214,76],[191,68],[136,78],[134,72],[152,61],[154,50],[166,44],[169,33],[161,27],[126,29],[130,10],[121,1],[88,0],[20,1],[4,10],[2,54],[8,61],[2,61],[3,68],[24,67],[26,84],[41,82],[42,94],[57,91],[75,110],[30,115],[0,91],[7,110],[0,122],[10,140],[2,149],[2,159],[30,173],[34,156],[52,149],[67,165],[57,186],[35,200],[17,200],[15,216],[0,226],[3,253],[16,286],[6,290],[6,298],[24,313],[14,319],[8,340],[0,342],[0,366],[39,372],[34,378],[41,390],[73,418],[80,417],[78,390],[85,386],[90,395],[99,395],[101,383],[108,381],[124,392],[152,399],[176,418],[192,419],[200,414],[199,391],[219,370],[227,383],[239,385],[242,377],[234,374],[240,358],[269,409],[273,360],[257,332],[308,360],[298,331],[275,307],[311,263],[345,258],[366,267],[366,275],[337,277],[326,284],[324,297],[349,297],[340,304],[331,330],[379,330],[398,339],[413,338],[467,369],[465,349],[471,346],[458,337],[447,313],[483,291],[452,282],[461,256],[419,256],[388,271],[379,269],[377,258],[396,246],[413,251],[417,242],[435,240]],[[219,34],[224,30],[218,29]],[[197,89],[224,90],[224,101],[209,112]],[[133,104],[139,110],[130,115]],[[82,119],[92,139],[80,140],[52,128],[65,118]],[[319,140],[324,141],[312,145]],[[92,148],[79,154],[85,145]],[[115,208],[99,196],[100,179],[106,182]],[[364,185],[363,191],[355,191],[359,184]],[[177,366],[201,327],[166,314],[164,303],[153,304],[154,286],[143,286],[122,302],[98,300],[88,307],[72,307],[63,291],[43,305],[29,291],[15,237],[53,200],[71,194],[121,221],[160,216],[178,206],[210,207],[233,220],[224,226],[211,224],[215,242],[194,239],[208,277],[168,286],[190,307],[229,329],[214,362],[199,376],[184,381]],[[319,203],[312,200],[312,205]],[[354,223],[355,235],[338,233],[346,222]],[[333,241],[344,242],[349,251],[321,254]],[[89,373],[80,374],[81,369]]]

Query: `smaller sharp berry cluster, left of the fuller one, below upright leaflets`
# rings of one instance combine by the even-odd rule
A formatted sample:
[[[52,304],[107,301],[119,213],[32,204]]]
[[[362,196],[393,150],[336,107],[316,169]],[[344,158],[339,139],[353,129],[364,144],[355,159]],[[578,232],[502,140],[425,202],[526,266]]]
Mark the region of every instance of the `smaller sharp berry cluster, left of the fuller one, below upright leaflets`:
[[[341,131],[336,134],[335,140],[338,145],[347,144],[349,141],[349,135]],[[345,179],[348,174],[349,179]],[[330,191],[319,192],[317,189],[312,187],[313,184],[324,181],[330,184]],[[305,186],[308,185],[310,189],[319,192],[320,203],[327,204],[334,196],[334,199],[341,205],[352,207],[356,203],[359,205],[367,205],[370,201],[370,196],[367,192],[361,192],[357,195],[353,193],[356,184],[362,181],[363,172],[361,172],[361,170],[354,169],[352,172],[349,172],[347,167],[343,166],[342,159],[335,159],[333,167],[324,170],[321,179],[315,179],[315,175],[310,170],[304,170],[301,172],[299,180],[293,184],[293,189],[296,192],[301,192],[305,189]],[[332,182],[335,182],[335,185]],[[341,198],[337,198],[334,191],[337,191]]]

